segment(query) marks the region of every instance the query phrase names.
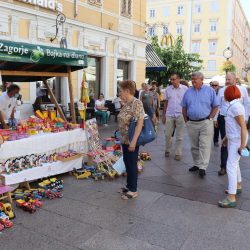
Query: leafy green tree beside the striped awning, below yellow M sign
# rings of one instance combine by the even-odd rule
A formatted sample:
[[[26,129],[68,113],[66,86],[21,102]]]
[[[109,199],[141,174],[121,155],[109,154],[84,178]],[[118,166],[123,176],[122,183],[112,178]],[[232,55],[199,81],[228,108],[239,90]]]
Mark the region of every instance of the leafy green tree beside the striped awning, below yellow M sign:
[[[161,47],[156,36],[152,38],[151,44],[166,65],[166,70],[147,72],[147,77],[150,80],[156,80],[160,84],[166,85],[173,72],[178,73],[185,80],[190,80],[191,73],[202,68],[203,61],[200,59],[199,54],[186,53],[184,51],[182,36],[178,36],[173,46]]]

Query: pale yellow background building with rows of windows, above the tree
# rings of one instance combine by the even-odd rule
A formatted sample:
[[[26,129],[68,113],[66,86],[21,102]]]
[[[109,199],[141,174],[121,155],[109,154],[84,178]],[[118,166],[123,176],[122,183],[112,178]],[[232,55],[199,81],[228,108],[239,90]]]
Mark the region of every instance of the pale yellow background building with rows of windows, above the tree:
[[[182,35],[185,51],[200,54],[205,77],[222,74],[230,47],[237,75],[247,78],[250,27],[240,0],[147,0],[148,37],[161,41],[168,33]]]

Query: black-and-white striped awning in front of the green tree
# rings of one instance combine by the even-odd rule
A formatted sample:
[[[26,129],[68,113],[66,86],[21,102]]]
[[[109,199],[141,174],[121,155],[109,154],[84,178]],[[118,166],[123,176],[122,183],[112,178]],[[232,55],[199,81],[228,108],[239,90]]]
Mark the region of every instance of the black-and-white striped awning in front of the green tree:
[[[151,44],[146,46],[146,71],[162,71],[166,69],[165,64],[159,58],[159,56],[154,51],[154,48]]]

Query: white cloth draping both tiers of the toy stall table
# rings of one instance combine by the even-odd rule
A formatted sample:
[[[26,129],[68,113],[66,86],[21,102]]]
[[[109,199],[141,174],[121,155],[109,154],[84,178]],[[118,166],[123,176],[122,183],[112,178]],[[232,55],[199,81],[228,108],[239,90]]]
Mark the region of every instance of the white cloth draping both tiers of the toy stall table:
[[[6,141],[0,147],[0,161],[23,157],[31,154],[63,151],[64,148],[80,148],[81,153],[87,153],[88,143],[83,129],[75,129],[60,133],[44,133],[22,140]],[[40,178],[72,171],[82,167],[82,157],[70,161],[45,163],[41,167],[26,169],[18,173],[2,174],[5,185],[34,181]]]

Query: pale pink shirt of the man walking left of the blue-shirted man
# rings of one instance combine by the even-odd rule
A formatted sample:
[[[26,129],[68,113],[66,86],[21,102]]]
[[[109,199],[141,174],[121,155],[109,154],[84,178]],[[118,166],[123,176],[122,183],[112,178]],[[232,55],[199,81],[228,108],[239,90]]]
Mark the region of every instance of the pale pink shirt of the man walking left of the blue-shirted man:
[[[179,117],[182,115],[181,101],[187,90],[188,87],[182,84],[180,84],[178,88],[175,88],[172,85],[167,87],[164,98],[166,101],[168,101],[166,116]]]

